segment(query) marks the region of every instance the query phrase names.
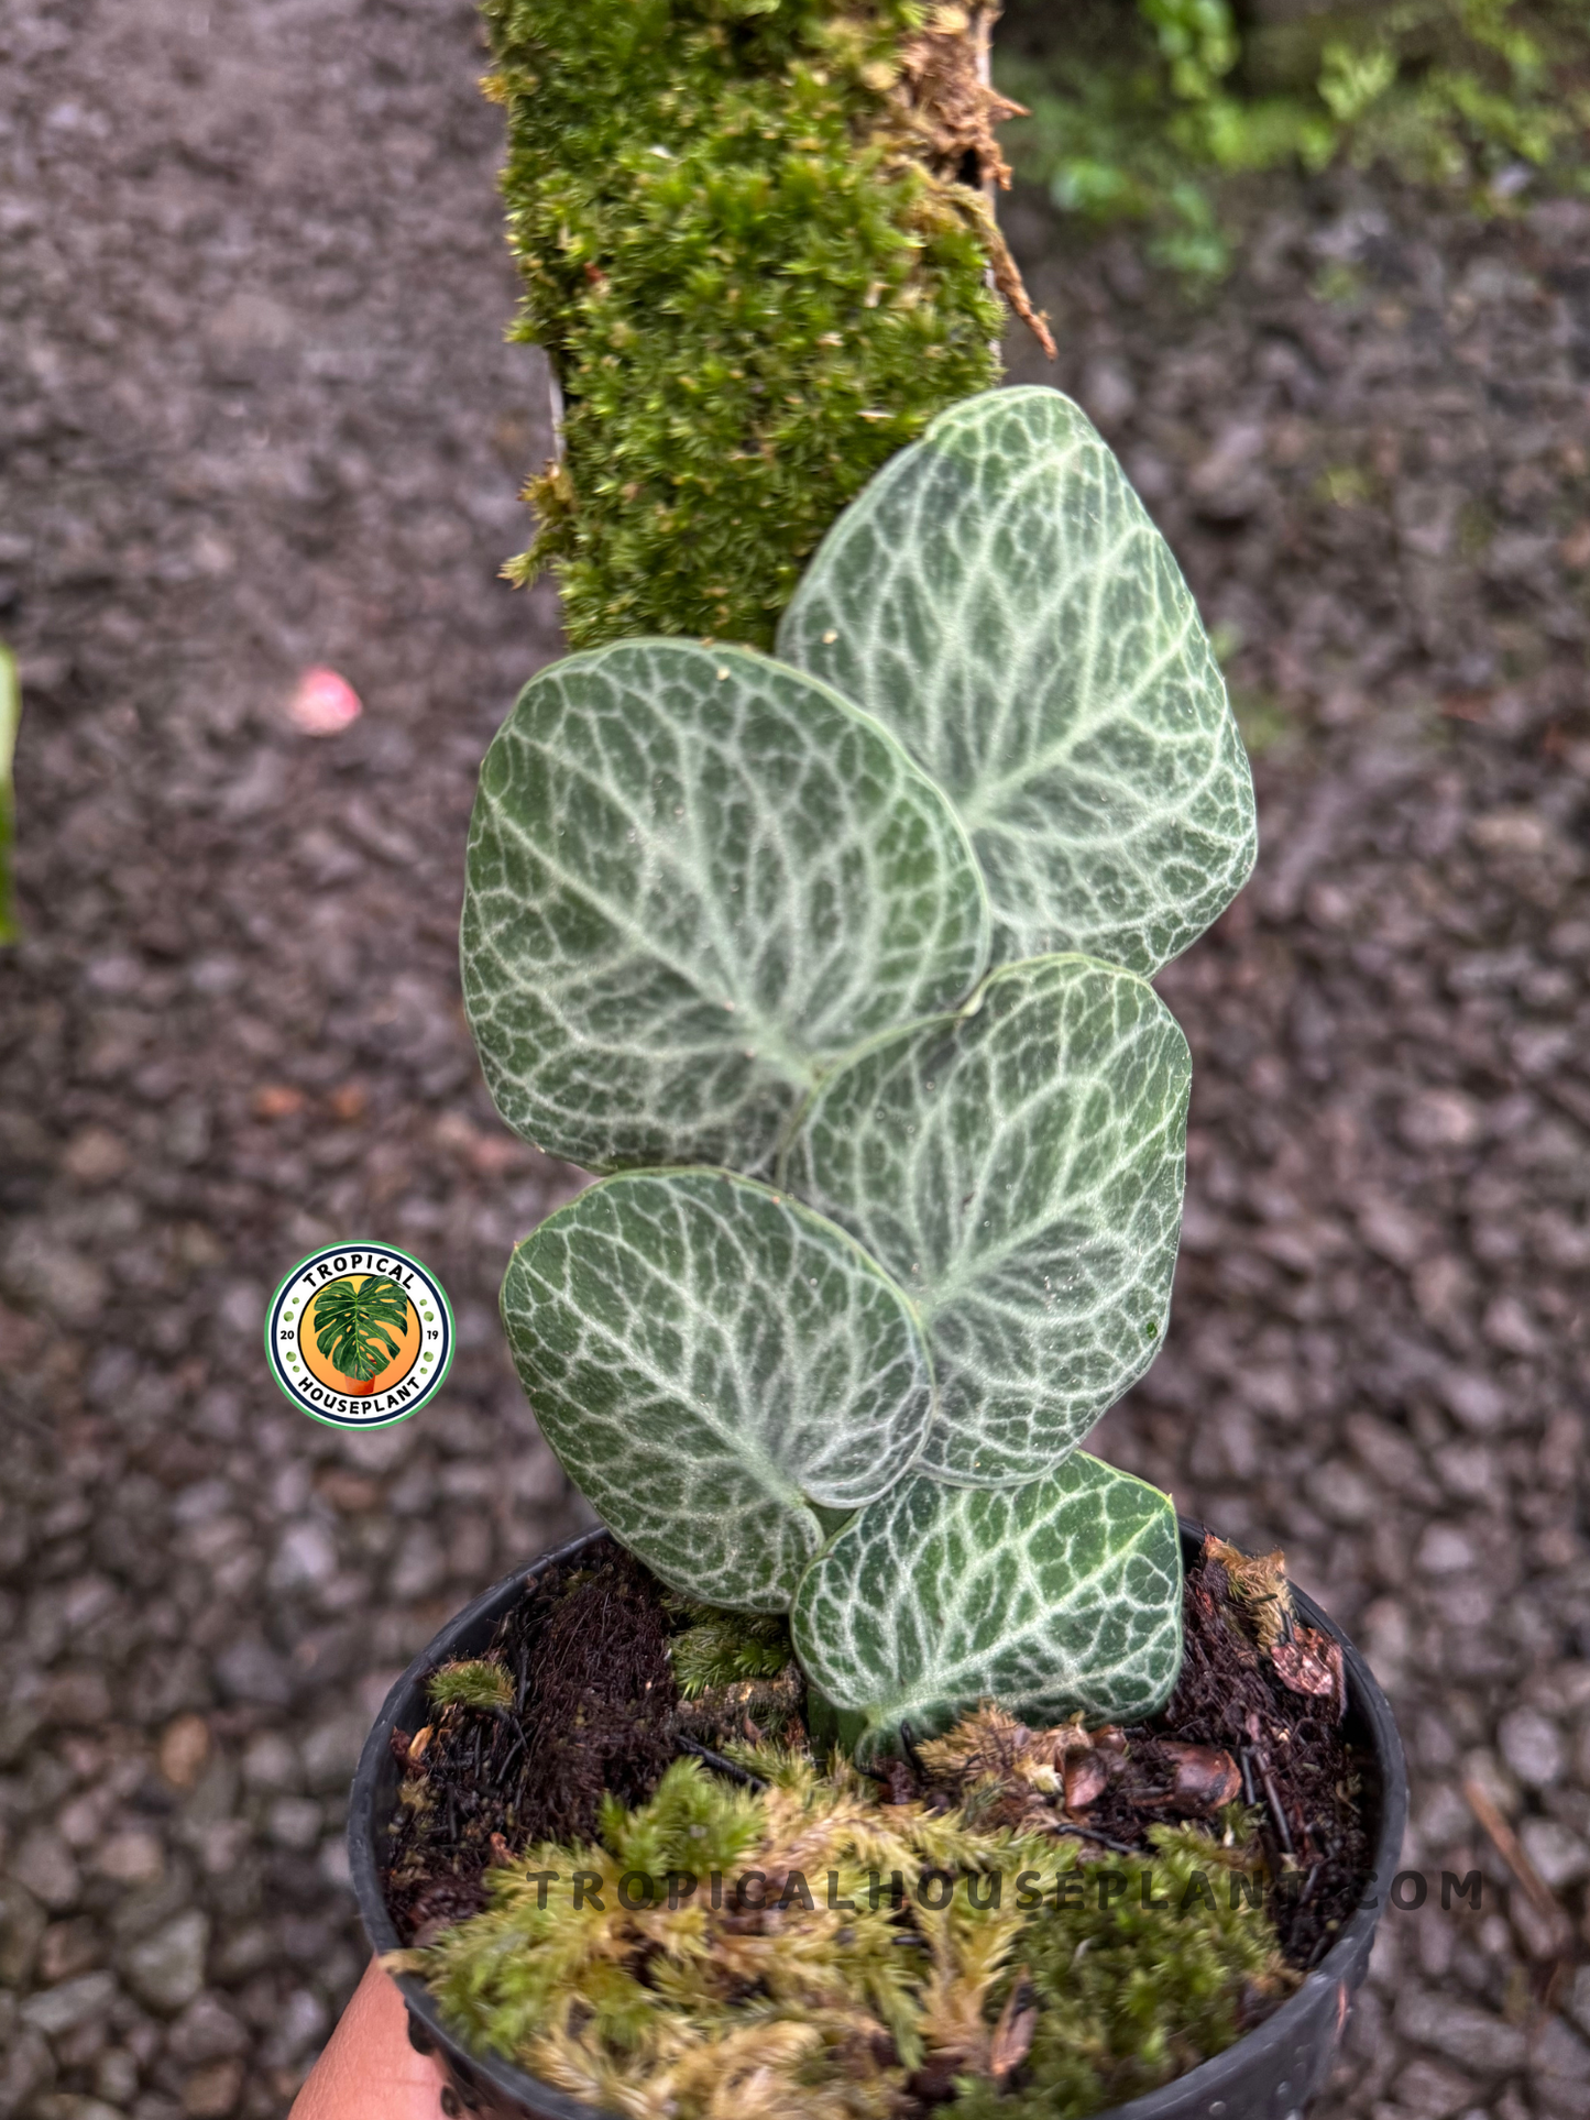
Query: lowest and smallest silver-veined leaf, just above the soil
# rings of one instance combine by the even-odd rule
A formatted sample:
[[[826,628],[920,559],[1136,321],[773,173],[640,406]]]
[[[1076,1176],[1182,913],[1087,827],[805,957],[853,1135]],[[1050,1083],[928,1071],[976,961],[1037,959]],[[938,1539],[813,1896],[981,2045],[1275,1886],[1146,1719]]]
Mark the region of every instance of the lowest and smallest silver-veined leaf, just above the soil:
[[[979,1700],[1138,1721],[1181,1666],[1177,1512],[1081,1450],[999,1492],[914,1473],[818,1554],[791,1632],[818,1692],[861,1713],[863,1751]]]

